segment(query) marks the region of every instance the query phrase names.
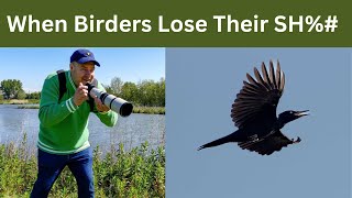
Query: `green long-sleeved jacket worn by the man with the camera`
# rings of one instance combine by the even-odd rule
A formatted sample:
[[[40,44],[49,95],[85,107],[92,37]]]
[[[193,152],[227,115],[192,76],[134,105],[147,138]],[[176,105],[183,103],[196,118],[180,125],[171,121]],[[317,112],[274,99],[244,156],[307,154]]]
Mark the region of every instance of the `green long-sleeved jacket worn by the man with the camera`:
[[[70,72],[65,72],[67,91],[58,101],[59,86],[57,74],[46,77],[38,111],[40,134],[37,146],[40,150],[53,154],[72,154],[90,146],[88,142],[88,117],[90,107],[88,102],[79,107],[74,105],[73,97],[76,86],[70,77]],[[105,88],[98,82],[98,89]],[[118,121],[118,113],[95,112],[102,123],[113,127]]]

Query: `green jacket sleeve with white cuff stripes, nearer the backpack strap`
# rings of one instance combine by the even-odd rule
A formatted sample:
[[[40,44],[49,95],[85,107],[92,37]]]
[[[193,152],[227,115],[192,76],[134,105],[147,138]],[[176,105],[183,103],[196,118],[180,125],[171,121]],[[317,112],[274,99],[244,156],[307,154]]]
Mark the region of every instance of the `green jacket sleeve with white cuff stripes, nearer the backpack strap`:
[[[41,94],[38,118],[43,127],[55,125],[78,109],[73,98],[58,103],[58,95],[57,75],[50,75],[44,81]]]

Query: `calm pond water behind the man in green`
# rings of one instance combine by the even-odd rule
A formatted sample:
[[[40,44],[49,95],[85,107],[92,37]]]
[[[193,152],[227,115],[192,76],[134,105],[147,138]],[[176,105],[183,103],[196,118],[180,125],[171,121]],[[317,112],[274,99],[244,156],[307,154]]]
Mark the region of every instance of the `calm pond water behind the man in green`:
[[[0,105],[0,144],[13,142],[19,145],[26,134],[26,144],[30,151],[36,150],[40,121],[38,109],[18,109],[15,105]],[[102,124],[94,113],[89,117],[88,129],[91,146],[102,151],[123,143],[125,150],[148,142],[151,148],[164,144],[165,116],[139,114],[119,117],[117,125],[108,128]]]

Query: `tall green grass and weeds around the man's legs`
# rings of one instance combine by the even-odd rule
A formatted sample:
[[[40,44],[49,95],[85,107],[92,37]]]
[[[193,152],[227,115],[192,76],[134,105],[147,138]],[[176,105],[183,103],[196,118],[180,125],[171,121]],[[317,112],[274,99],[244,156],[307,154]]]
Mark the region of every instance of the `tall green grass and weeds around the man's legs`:
[[[26,135],[18,147],[0,145],[0,197],[29,197],[36,179],[36,156],[26,151]],[[150,150],[147,143],[131,151],[119,148],[102,156],[94,150],[96,197],[165,197],[165,150]],[[50,197],[77,197],[77,185],[66,167]]]

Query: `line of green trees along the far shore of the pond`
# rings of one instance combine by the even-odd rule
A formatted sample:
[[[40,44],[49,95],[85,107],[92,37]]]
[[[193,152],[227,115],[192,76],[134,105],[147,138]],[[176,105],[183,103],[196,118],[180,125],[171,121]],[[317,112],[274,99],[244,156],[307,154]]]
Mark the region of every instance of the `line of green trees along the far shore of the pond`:
[[[108,94],[131,101],[135,106],[165,107],[165,79],[158,81],[140,80],[138,84],[125,81],[120,77],[112,78],[110,85],[103,85]],[[2,95],[1,95],[2,91]],[[40,99],[41,91],[25,92],[21,80],[4,79],[0,84],[2,99]]]

